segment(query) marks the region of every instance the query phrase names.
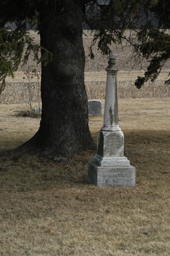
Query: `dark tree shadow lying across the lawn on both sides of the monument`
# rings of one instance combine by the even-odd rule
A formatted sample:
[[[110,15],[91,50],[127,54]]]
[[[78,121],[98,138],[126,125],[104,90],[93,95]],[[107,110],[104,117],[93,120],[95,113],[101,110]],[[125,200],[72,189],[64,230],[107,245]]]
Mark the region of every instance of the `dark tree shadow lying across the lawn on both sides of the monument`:
[[[170,175],[170,131],[124,132],[124,155],[136,168],[136,183]],[[74,154],[69,162],[39,159],[38,152],[0,152],[0,186],[12,189],[46,189],[87,184],[87,163],[96,151]]]

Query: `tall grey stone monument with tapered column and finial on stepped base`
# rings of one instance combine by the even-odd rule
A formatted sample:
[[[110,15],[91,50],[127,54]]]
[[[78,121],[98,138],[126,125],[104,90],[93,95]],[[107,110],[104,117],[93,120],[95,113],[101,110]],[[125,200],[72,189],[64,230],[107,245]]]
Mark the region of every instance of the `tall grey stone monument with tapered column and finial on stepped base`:
[[[124,157],[124,134],[118,125],[116,58],[109,55],[104,125],[98,132],[97,154],[88,163],[87,181],[95,186],[135,186],[135,167]]]

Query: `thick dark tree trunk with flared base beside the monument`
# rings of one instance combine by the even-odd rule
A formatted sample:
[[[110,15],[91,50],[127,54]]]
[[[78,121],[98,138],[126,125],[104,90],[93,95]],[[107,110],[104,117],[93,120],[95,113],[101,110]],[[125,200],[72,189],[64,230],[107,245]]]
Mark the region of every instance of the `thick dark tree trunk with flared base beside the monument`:
[[[95,148],[84,85],[83,4],[61,2],[41,10],[40,44],[53,58],[46,67],[42,65],[40,128],[25,144],[40,148],[42,157],[58,161],[75,151]],[[52,12],[52,8],[56,9]]]

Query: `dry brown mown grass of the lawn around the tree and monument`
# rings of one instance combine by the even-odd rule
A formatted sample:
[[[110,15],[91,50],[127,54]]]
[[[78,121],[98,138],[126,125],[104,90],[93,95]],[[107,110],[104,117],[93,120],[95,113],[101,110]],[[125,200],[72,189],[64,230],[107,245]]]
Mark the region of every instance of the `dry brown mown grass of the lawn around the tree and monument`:
[[[118,105],[133,188],[86,183],[95,151],[66,164],[6,151],[32,137],[40,119],[16,117],[24,106],[0,105],[0,255],[170,255],[170,101]],[[103,114],[89,115],[89,125],[96,140]]]

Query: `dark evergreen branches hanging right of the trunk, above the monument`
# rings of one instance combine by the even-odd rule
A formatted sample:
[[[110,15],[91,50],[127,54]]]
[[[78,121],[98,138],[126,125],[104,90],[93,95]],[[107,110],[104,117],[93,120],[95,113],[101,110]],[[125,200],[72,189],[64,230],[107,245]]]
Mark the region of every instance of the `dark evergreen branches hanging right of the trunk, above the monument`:
[[[91,5],[88,12],[91,19],[87,22],[95,30],[89,49],[91,58],[94,58],[92,47],[96,43],[98,49],[108,55],[111,43],[121,44],[122,40],[126,40],[134,47],[135,56],[140,58],[142,55],[150,61],[144,77],[138,77],[135,86],[141,88],[144,82],[157,78],[170,58],[169,0],[110,0],[109,4],[107,2],[102,6],[98,3]],[[127,37],[124,33],[127,29],[135,33]],[[170,79],[166,84],[170,84]]]

